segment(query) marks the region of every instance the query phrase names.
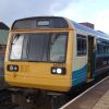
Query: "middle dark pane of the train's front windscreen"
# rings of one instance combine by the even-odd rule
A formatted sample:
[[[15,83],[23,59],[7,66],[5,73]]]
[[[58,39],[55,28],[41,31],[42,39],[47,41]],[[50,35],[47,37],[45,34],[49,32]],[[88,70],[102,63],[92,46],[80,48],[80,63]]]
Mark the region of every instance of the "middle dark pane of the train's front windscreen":
[[[29,35],[29,61],[41,61],[44,50],[44,34],[32,34]],[[46,48],[45,48],[46,49]]]

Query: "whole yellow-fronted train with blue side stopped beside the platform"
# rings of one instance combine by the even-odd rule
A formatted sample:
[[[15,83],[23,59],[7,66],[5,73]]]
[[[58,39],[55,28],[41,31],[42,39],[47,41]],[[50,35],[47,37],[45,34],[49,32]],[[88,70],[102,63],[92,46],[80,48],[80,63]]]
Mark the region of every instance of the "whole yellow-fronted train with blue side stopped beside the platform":
[[[109,35],[61,16],[16,20],[4,77],[22,95],[60,95],[109,71]]]

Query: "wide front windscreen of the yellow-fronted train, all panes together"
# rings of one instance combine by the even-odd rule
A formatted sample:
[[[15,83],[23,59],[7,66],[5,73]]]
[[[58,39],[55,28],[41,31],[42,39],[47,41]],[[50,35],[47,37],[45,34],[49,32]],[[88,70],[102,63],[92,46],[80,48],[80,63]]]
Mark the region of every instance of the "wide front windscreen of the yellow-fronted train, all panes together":
[[[16,34],[12,37],[10,60],[64,62],[68,33]]]

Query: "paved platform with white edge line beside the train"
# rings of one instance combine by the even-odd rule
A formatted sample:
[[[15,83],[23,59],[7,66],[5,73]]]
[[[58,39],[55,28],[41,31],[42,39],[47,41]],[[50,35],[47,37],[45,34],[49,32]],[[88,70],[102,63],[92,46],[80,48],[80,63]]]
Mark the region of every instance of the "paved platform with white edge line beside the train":
[[[95,84],[60,109],[109,109],[109,76]]]

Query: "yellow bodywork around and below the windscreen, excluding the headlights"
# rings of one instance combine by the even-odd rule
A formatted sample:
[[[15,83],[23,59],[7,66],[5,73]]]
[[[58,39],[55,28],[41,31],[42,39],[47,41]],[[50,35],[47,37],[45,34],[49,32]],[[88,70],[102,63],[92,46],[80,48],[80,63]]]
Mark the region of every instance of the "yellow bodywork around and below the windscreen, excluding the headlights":
[[[69,34],[66,62],[64,64],[47,62],[12,62],[5,56],[5,81],[12,86],[32,87],[48,90],[68,92],[72,87],[72,57],[73,57],[73,33]],[[10,41],[9,41],[10,43]],[[9,45],[8,45],[9,46]],[[9,49],[7,49],[7,55]],[[8,64],[19,65],[19,72],[7,71]],[[65,75],[51,74],[51,68],[64,65]]]

